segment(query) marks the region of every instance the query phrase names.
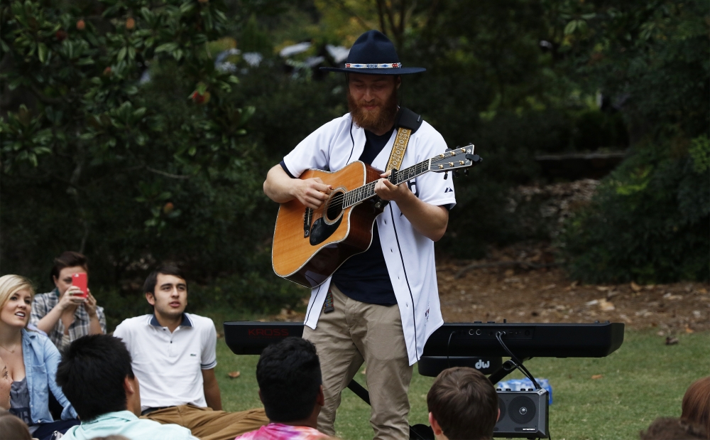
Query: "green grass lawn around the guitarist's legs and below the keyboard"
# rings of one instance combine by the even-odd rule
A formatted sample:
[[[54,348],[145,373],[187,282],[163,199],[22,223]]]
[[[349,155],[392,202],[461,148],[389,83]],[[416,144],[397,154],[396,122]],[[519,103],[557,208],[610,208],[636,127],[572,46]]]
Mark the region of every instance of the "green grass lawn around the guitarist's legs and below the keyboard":
[[[679,344],[665,345],[665,338],[655,332],[627,331],[621,348],[607,358],[537,358],[525,363],[533,375],[549,379],[552,385],[552,438],[638,439],[638,432],[656,417],[679,416],[688,385],[710,375],[710,333],[678,338]],[[258,356],[234,355],[220,339],[217,359],[224,409],[261,406],[256,393]],[[241,376],[231,379],[227,377],[230,371],[239,371]],[[414,371],[409,392],[410,424],[427,423],[426,395],[434,378],[417,374],[416,365]],[[592,375],[603,377],[592,380]],[[508,378],[513,377],[522,375]],[[356,380],[366,385],[364,375],[357,375]],[[338,436],[344,440],[371,439],[369,417],[370,407],[345,390],[337,415]]]

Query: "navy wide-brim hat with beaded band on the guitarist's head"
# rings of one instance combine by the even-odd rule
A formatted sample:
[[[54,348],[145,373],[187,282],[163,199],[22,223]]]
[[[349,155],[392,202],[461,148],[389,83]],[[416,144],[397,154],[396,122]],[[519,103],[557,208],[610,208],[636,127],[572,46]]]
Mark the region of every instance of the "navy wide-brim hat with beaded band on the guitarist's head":
[[[395,45],[380,31],[367,31],[350,48],[345,68],[320,68],[326,72],[361,73],[363,75],[409,75],[425,68],[403,68]]]

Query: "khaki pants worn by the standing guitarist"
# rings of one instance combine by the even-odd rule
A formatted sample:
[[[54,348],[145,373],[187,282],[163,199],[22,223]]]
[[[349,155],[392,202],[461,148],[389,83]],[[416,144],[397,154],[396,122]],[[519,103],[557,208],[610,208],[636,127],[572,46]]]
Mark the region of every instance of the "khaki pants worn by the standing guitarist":
[[[335,284],[330,289],[335,311],[321,311],[315,330],[303,328],[303,338],[316,346],[323,375],[325,405],[318,417],[318,429],[335,435],[341,392],[364,362],[374,438],[409,439],[407,392],[412,367],[398,306],[361,303],[345,296]]]

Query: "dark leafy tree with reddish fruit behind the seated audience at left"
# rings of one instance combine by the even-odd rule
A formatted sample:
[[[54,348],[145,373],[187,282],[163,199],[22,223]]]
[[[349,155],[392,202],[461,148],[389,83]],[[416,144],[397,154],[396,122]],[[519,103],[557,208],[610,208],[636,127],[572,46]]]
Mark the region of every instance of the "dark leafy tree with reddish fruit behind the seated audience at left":
[[[254,108],[214,63],[225,11],[221,0],[0,6],[3,272],[45,281],[66,249],[89,256],[105,289],[135,292],[164,261],[202,282],[266,272]]]

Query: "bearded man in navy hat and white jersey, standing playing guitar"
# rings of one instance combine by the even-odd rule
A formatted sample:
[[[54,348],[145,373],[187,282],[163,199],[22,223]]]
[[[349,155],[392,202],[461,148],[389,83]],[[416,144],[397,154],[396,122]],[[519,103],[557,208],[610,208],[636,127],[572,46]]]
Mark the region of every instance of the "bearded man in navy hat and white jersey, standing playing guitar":
[[[346,73],[350,112],[307,136],[271,168],[264,192],[275,202],[297,199],[320,208],[334,188],[320,178],[299,179],[308,169],[334,171],[357,160],[386,169],[405,112],[397,100],[401,75],[425,70],[401,67],[394,45],[378,31],[357,39],[345,68],[322,69]],[[401,168],[447,149],[430,124],[415,120]],[[444,235],[456,203],[453,179],[427,173],[395,186],[386,171],[374,191],[389,203],[376,218],[370,247],[312,290],[306,312],[303,337],[315,344],[323,375],[318,428],[329,435],[335,434],[341,392],[365,363],[374,438],[409,438],[412,365],[443,323],[434,242]]]

